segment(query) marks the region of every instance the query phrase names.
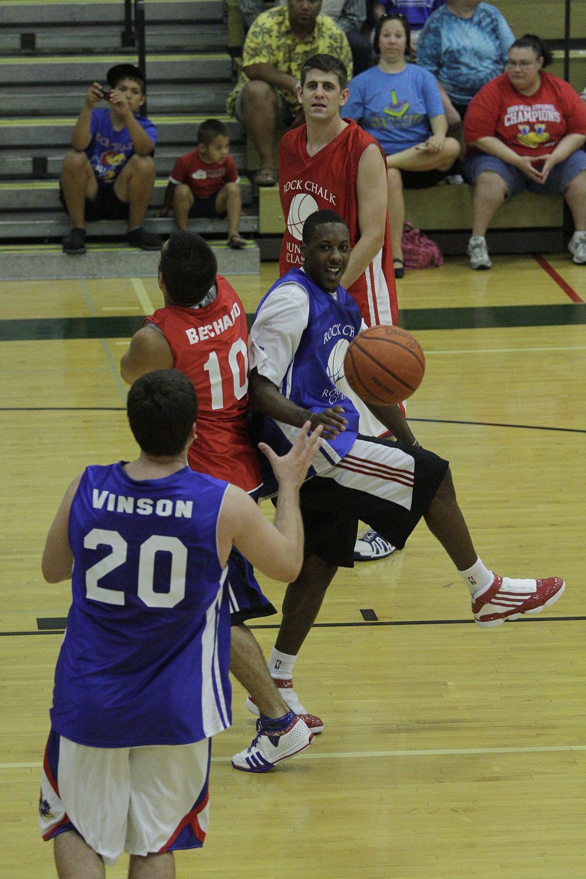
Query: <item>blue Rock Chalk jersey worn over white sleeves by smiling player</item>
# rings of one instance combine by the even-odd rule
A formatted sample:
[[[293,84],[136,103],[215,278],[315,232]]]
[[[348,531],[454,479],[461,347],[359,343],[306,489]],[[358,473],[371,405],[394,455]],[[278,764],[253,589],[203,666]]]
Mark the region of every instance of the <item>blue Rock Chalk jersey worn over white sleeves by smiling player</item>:
[[[348,421],[346,430],[338,434],[336,439],[322,441],[320,454],[307,474],[315,476],[315,473],[340,461],[350,451],[358,436],[358,411],[349,397],[337,388],[336,381],[344,374],[344,354],[351,340],[360,331],[362,316],[358,305],[344,287],[338,287],[336,296],[333,296],[322,290],[322,287],[299,268],[291,269],[272,285],[260,301],[257,314],[273,291],[291,281],[307,290],[309,316],[307,327],[301,335],[300,344],[279,391],[293,403],[311,412],[322,412],[331,406],[341,405],[344,407],[344,418]],[[257,414],[251,419],[250,430],[253,439],[262,439],[278,454],[286,454],[299,432],[296,427]],[[261,465],[263,464],[264,461],[261,460]],[[263,478],[266,482],[263,495],[274,493],[276,484],[270,468],[263,469]]]

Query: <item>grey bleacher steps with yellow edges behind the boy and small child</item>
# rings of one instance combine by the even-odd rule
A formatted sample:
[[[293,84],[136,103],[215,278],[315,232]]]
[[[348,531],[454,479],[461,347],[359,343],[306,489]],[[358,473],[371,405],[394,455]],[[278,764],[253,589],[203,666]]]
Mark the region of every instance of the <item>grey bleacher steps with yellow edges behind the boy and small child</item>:
[[[158,130],[157,179],[145,228],[163,236],[176,229],[172,212],[165,218],[155,214],[178,156],[195,148],[199,124],[213,116],[228,126],[230,151],[241,173],[241,232],[255,235],[258,216],[250,180],[243,175],[242,127],[226,116],[234,77],[224,4],[147,0],[145,10],[148,117]],[[59,174],[77,114],[90,84],[105,83],[107,69],[137,63],[134,47],[123,45],[123,0],[0,0],[0,21],[0,276],[151,275],[157,254],[134,251],[120,241],[124,222],[88,223],[87,254],[61,253],[69,218],[59,201]],[[210,240],[221,272],[259,271],[256,243],[241,251],[226,246],[225,220],[192,220],[190,228]]]

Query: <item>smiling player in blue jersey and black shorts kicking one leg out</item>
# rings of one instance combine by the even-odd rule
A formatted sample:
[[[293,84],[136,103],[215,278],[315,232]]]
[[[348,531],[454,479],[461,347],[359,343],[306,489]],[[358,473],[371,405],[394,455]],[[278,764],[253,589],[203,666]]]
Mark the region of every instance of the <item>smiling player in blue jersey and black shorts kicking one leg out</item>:
[[[302,268],[271,287],[250,330],[257,438],[282,454],[307,419],[312,428],[323,428],[322,447],[300,491],[305,562],[287,587],[269,665],[279,668],[281,688],[292,686],[293,664],[338,565],[353,567],[358,519],[402,548],[423,517],[468,586],[482,627],[536,614],[565,588],[561,578],[502,578],[485,567],[459,510],[448,462],[419,447],[398,406],[369,406],[396,441],[358,433],[358,411],[336,385],[347,343],[361,326],[358,306],[338,286],[350,257],[339,214],[322,210],[307,218],[301,254]],[[252,710],[250,701],[247,706]]]

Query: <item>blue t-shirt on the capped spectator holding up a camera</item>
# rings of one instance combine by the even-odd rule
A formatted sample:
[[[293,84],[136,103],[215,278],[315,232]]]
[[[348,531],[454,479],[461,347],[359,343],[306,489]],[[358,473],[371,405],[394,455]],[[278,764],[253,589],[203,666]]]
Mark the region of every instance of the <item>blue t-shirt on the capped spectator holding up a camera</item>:
[[[94,107],[91,111],[91,140],[85,155],[100,185],[112,185],[134,154],[134,143],[127,127],[119,131],[112,126],[111,111],[107,107]],[[146,116],[134,116],[151,141],[156,143],[156,127]]]

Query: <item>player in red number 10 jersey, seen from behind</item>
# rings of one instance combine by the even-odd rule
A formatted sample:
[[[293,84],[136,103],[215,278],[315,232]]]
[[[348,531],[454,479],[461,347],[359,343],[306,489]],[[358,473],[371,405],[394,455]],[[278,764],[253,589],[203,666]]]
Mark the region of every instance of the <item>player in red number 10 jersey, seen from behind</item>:
[[[217,267],[212,249],[195,232],[180,231],[170,236],[163,245],[159,264],[165,307],[145,318],[141,330],[134,334],[120,362],[120,374],[130,384],[155,369],[184,373],[192,381],[199,401],[198,438],[189,450],[190,467],[234,483],[257,499],[262,477],[257,451],[246,430],[246,314],[234,288],[216,274]],[[248,749],[235,755],[233,765],[244,771],[266,771],[300,750],[301,727],[297,712],[293,713],[279,695],[257,641],[243,625],[250,617],[276,611],[261,592],[250,563],[237,552],[228,559],[228,593],[232,623],[230,671],[249,692],[252,687],[254,701],[262,705],[262,715],[272,724],[266,733],[263,728],[259,730],[253,743],[255,759],[250,760]],[[293,718],[294,734],[288,735]],[[317,718],[307,716],[302,720],[306,738],[313,737],[312,731],[322,731],[321,722],[315,723]],[[274,724],[280,721],[283,729],[276,730]],[[311,731],[306,723],[311,724]]]

